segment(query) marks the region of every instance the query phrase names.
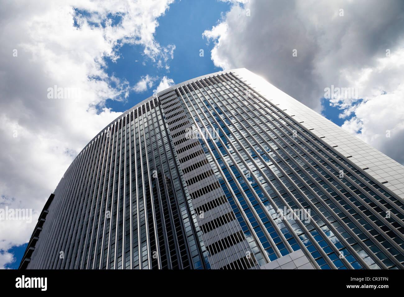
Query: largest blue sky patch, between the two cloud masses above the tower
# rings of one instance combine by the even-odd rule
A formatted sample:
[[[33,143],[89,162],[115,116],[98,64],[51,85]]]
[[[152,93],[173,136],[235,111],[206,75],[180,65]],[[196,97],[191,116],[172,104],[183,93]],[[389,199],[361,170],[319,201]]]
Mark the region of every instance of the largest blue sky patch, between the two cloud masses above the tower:
[[[142,55],[143,46],[125,44],[119,50],[120,59],[116,63],[107,59],[106,72],[119,78],[126,78],[130,85],[136,84],[141,76],[168,76],[177,84],[204,74],[221,71],[215,67],[210,59],[210,51],[214,44],[207,44],[202,33],[216,25],[221,13],[229,9],[227,2],[216,0],[175,1],[165,15],[158,18],[159,26],[156,28],[155,39],[161,46],[175,44],[174,59],[168,65],[158,68],[150,59]],[[204,56],[200,57],[200,49],[204,50]],[[145,65],[142,65],[142,62]],[[158,82],[157,82],[158,84]],[[156,83],[154,84],[156,88]],[[153,87],[142,93],[131,92],[127,102],[108,100],[107,107],[114,111],[124,112],[145,98],[153,95]]]

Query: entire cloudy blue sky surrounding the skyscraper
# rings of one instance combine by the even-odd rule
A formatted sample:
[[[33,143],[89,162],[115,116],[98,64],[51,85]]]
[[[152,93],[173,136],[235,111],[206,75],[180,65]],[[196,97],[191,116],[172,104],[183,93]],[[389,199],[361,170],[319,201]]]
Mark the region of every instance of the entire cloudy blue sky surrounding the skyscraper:
[[[239,67],[404,164],[402,1],[19,0],[3,8],[0,206],[38,216],[74,157],[120,113],[164,81]],[[48,99],[55,84],[84,96]],[[331,85],[358,88],[362,100],[330,106]],[[0,268],[18,268],[35,223],[0,222]]]

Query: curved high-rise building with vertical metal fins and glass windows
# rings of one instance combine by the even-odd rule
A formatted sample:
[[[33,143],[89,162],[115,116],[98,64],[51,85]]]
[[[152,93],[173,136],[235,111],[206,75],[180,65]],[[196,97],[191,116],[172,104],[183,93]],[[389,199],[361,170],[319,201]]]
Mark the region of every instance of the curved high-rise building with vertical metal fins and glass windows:
[[[106,126],[20,268],[401,269],[404,167],[246,69]]]

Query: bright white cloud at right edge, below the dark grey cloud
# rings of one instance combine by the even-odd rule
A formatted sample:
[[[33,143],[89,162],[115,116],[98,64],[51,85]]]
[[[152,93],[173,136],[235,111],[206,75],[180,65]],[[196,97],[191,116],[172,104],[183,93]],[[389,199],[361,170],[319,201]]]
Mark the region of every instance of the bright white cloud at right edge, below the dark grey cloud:
[[[354,116],[342,125],[347,131],[371,143],[379,150],[404,164],[404,44],[390,57],[378,60],[377,65],[360,88],[364,100],[350,105]],[[360,77],[360,74],[357,74]],[[338,101],[335,105],[343,105]],[[345,114],[343,114],[344,116]]]

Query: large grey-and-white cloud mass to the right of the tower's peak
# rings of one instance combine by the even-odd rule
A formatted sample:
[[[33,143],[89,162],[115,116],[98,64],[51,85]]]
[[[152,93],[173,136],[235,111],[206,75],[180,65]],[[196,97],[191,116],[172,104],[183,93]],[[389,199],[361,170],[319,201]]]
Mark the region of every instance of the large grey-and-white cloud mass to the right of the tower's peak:
[[[343,128],[404,163],[404,2],[231,2],[202,34],[217,67],[246,67],[318,112],[325,88],[357,88],[360,100],[329,102]]]

